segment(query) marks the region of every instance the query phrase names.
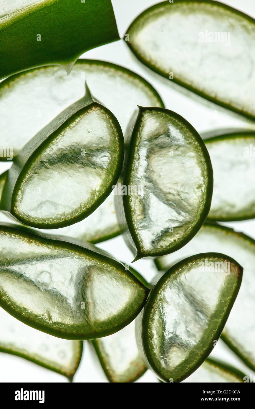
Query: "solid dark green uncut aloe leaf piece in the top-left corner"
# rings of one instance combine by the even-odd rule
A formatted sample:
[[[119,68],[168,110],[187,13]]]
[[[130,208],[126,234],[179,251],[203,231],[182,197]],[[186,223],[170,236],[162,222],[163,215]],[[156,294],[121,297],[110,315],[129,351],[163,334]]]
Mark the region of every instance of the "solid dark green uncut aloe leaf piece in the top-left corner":
[[[47,64],[70,72],[83,52],[119,38],[110,0],[1,0],[0,79]]]

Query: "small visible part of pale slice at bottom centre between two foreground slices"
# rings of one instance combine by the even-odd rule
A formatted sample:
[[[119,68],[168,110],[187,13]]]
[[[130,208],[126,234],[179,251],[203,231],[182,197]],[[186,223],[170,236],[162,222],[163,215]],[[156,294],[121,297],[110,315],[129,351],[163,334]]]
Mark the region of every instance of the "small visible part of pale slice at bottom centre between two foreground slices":
[[[92,343],[109,382],[135,382],[147,370],[135,340],[135,321]]]

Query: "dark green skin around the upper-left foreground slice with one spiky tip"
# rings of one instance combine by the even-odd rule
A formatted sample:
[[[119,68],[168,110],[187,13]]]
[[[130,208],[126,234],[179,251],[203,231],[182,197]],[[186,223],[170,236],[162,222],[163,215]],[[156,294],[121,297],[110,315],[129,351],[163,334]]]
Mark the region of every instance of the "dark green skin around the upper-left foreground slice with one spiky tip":
[[[17,193],[20,188],[20,183],[22,183],[24,175],[27,174],[29,166],[31,163],[36,160],[38,155],[43,152],[43,150],[48,146],[48,144],[54,140],[54,138],[59,135],[62,131],[64,131],[69,124],[73,123],[73,121],[79,117],[80,114],[84,112],[88,112],[91,108],[97,107],[99,109],[104,110],[106,114],[111,117],[113,121],[114,127],[117,131],[118,135],[118,161],[115,167],[115,171],[113,174],[113,178],[106,187],[102,196],[97,198],[97,200],[85,211],[80,213],[77,216],[72,218],[66,218],[63,221],[54,221],[50,223],[40,223],[40,222],[33,222],[28,218],[23,218],[20,214],[17,214],[14,206],[16,202]],[[77,101],[76,103],[72,104],[70,107],[66,108],[61,114],[59,114],[50,124],[45,126],[37,135],[35,135],[20,151],[20,154],[15,158],[11,169],[8,171],[7,180],[5,182],[2,197],[0,201],[0,210],[7,211],[11,213],[17,220],[22,222],[25,225],[29,225],[31,227],[37,227],[39,229],[54,229],[59,227],[65,227],[68,225],[72,225],[73,223],[79,222],[83,220],[85,217],[89,216],[102,202],[107,198],[107,196],[112,191],[112,185],[115,184],[118,180],[120,175],[120,171],[122,169],[124,157],[124,138],[122,134],[122,130],[120,128],[120,124],[118,123],[117,119],[114,115],[101,104],[95,102],[93,97],[90,94],[88,87],[86,86],[86,94],[85,97]]]

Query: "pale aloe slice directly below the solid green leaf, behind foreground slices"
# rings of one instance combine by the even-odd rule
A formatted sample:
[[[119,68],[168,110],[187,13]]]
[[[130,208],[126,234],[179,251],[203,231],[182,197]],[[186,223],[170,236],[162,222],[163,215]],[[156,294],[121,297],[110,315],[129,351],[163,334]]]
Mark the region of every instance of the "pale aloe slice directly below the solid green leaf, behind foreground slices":
[[[0,146],[11,146],[15,157],[36,133],[83,97],[85,80],[97,99],[117,117],[123,132],[138,104],[164,106],[145,79],[119,65],[79,59],[68,76],[61,67],[41,67],[0,83]]]

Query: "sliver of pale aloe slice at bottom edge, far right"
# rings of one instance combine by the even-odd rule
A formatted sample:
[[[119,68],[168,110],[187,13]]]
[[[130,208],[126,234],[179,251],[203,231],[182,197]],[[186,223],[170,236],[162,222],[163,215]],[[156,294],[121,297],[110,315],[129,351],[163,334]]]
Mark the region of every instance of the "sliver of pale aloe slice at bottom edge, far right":
[[[208,358],[183,382],[223,383],[244,382],[245,374],[223,362]]]

